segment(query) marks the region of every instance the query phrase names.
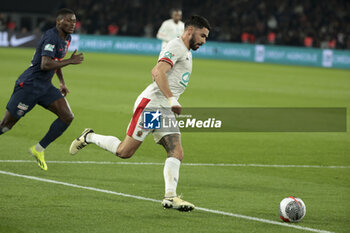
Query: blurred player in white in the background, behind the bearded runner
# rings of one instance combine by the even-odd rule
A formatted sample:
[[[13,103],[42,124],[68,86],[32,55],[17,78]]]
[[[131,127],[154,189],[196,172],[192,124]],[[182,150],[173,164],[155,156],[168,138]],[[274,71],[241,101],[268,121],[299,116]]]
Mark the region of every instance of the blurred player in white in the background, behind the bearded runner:
[[[180,37],[185,30],[185,24],[181,21],[182,11],[172,9],[170,15],[171,19],[165,20],[157,33],[157,38],[162,40],[162,50],[169,41]]]

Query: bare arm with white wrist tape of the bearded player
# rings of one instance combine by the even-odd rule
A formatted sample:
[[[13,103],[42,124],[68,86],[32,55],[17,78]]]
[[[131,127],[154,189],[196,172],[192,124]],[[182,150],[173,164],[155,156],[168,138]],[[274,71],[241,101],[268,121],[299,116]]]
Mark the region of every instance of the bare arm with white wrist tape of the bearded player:
[[[158,64],[152,69],[152,78],[157,83],[159,89],[163,95],[169,100],[171,110],[176,114],[181,113],[181,105],[177,99],[173,96],[170,90],[168,78],[166,73],[171,69],[171,65],[168,62],[159,61]]]

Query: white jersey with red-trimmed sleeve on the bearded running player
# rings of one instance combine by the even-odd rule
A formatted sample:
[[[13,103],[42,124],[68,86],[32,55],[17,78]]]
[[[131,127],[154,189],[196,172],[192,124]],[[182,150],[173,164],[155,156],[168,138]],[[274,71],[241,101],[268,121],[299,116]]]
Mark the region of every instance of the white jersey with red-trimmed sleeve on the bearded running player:
[[[192,72],[192,53],[181,38],[174,39],[160,52],[158,62],[167,62],[171,69],[166,73],[169,87],[177,99],[185,91]],[[140,97],[152,99],[162,106],[168,106],[168,100],[156,82],[150,84]]]

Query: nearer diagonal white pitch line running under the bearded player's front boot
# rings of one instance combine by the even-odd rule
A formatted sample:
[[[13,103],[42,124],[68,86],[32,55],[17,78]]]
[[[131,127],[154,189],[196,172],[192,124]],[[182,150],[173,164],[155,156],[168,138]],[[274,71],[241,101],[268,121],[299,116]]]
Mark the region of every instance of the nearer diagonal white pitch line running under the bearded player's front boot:
[[[99,189],[99,188],[94,188],[94,187],[71,184],[71,183],[50,180],[50,179],[45,179],[45,178],[40,178],[40,177],[35,177],[35,176],[27,176],[27,175],[22,175],[22,174],[17,174],[17,173],[13,173],[13,172],[2,171],[2,170],[0,170],[0,174],[14,176],[14,177],[21,177],[21,178],[26,178],[29,180],[36,180],[36,181],[41,181],[41,182],[46,182],[46,183],[51,183],[51,184],[60,184],[60,185],[68,186],[68,187],[85,189],[85,190],[101,192],[101,193],[107,193],[107,194],[112,194],[112,195],[117,195],[117,196],[122,196],[122,197],[130,197],[130,198],[143,200],[143,201],[151,201],[151,202],[157,202],[157,203],[161,202],[160,200],[156,200],[153,198],[141,197],[141,196],[126,194],[126,193],[114,192],[114,191],[110,191],[110,190],[106,190],[106,189]],[[283,226],[283,227],[295,228],[295,229],[304,230],[304,231],[311,231],[311,232],[317,232],[317,233],[334,233],[331,231],[325,231],[325,230],[309,228],[309,227],[302,227],[299,225],[282,223],[282,222],[272,221],[272,220],[263,219],[263,218],[256,218],[256,217],[251,217],[251,216],[246,216],[246,215],[241,215],[241,214],[234,214],[234,213],[224,212],[224,211],[220,211],[220,210],[212,210],[212,209],[207,209],[207,208],[202,208],[202,207],[196,207],[196,210],[201,210],[201,211],[209,212],[209,213],[213,213],[213,214],[236,217],[236,218],[241,218],[241,219],[246,219],[246,220],[251,220],[251,221],[256,221],[256,222],[279,225],[279,226]]]

